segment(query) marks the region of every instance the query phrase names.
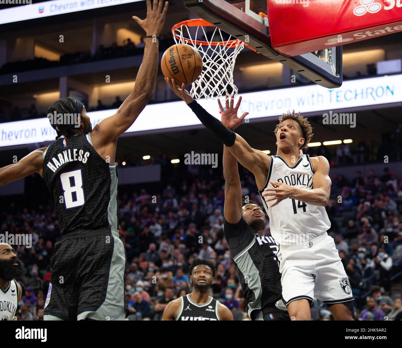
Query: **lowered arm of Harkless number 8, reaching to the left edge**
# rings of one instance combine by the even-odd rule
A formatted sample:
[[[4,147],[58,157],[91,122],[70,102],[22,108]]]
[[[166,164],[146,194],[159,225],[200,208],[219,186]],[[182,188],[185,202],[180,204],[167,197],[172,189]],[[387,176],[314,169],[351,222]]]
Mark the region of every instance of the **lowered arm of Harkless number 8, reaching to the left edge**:
[[[47,147],[36,149],[17,163],[0,168],[0,186],[8,184],[14,180],[25,178],[25,176],[35,172],[42,175],[43,152],[46,149]]]

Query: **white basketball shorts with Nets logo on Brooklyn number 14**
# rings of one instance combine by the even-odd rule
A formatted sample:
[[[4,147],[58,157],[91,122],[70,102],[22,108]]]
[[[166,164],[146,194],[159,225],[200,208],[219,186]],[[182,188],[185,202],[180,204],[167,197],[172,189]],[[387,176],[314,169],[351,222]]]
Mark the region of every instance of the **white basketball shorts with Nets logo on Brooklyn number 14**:
[[[327,305],[353,300],[345,268],[328,233],[304,244],[280,245],[278,258],[285,305],[307,299],[312,306],[314,297]]]

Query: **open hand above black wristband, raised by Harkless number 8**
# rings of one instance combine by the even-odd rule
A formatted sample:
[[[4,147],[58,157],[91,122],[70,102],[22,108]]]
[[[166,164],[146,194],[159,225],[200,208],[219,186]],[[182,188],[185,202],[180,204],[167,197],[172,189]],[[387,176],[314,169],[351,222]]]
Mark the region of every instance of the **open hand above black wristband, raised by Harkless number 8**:
[[[163,4],[163,0],[154,0],[151,6],[151,0],[147,0],[147,18],[140,19],[137,16],[133,16],[132,18],[144,29],[147,36],[159,36],[165,24],[168,5],[169,3],[167,1]]]

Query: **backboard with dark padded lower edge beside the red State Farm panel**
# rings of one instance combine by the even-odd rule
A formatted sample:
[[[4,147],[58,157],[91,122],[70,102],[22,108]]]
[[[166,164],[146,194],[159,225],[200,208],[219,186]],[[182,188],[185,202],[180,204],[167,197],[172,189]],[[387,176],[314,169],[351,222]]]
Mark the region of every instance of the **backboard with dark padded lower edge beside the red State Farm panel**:
[[[326,88],[342,85],[342,46],[286,57],[269,37],[267,0],[183,0],[194,14]],[[290,18],[291,20],[291,18]]]

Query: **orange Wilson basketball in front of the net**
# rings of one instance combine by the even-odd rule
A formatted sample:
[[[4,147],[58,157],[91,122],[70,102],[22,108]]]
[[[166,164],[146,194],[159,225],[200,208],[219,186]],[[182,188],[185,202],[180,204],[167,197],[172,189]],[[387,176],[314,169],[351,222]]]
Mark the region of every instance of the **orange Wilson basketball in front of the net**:
[[[189,45],[179,43],[170,46],[160,62],[162,73],[177,84],[193,83],[200,76],[203,63],[199,52]]]

